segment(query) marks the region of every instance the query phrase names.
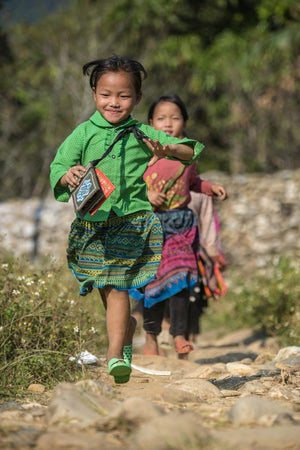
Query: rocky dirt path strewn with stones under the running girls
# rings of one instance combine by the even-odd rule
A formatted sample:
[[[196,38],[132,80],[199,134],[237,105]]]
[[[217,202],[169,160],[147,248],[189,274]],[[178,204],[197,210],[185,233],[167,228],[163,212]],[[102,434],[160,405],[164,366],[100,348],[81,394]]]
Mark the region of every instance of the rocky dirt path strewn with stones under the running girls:
[[[129,383],[106,363],[61,383],[47,404],[0,405],[1,449],[300,449],[300,347],[278,348],[251,330],[202,334],[189,360],[142,354]]]

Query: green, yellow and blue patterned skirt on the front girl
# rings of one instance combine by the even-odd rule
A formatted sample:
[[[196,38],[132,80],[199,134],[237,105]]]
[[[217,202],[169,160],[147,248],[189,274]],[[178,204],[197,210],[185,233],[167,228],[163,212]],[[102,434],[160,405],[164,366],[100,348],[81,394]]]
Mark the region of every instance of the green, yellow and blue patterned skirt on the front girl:
[[[156,275],[162,252],[162,228],[151,211],[139,211],[103,222],[76,218],[71,225],[68,265],[80,284],[80,295],[93,288],[140,288]]]

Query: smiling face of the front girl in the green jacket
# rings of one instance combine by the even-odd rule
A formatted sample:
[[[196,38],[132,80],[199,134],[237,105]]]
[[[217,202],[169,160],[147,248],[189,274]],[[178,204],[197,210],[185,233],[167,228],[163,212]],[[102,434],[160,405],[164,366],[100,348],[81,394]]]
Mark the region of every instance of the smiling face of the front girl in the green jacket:
[[[99,78],[94,99],[100,114],[115,127],[125,122],[139,103],[133,79],[127,72],[107,72]]]

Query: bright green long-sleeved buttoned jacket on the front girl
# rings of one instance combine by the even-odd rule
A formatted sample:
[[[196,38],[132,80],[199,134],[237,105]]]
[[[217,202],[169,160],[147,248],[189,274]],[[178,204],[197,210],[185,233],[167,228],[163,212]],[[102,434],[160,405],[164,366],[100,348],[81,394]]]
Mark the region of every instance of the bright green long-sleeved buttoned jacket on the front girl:
[[[132,119],[132,117],[129,117],[121,126],[114,127],[96,111],[89,120],[76,127],[65,139],[51,163],[50,183],[56,200],[67,202],[70,198],[69,188],[58,184],[69,168],[77,164],[86,166],[90,161],[100,158],[117,134],[123,128],[131,125],[136,125],[151,139],[158,139],[162,145],[182,143],[193,147],[193,159],[182,161],[184,164],[191,164],[195,161],[204,148],[200,142],[168,136],[162,131],[157,131],[149,125]],[[109,155],[97,166],[116,186],[116,189],[105,200],[101,208],[93,216],[87,214],[85,220],[105,221],[111,209],[117,216],[142,210],[151,211],[143,175],[152,156],[153,153],[147,145],[138,141],[133,133],[117,142]]]

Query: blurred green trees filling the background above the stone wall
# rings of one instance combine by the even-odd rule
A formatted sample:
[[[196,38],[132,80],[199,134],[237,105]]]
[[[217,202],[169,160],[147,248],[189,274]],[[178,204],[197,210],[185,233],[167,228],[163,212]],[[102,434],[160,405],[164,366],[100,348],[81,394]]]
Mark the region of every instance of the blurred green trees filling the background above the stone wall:
[[[137,118],[158,95],[187,103],[202,172],[296,167],[299,17],[295,0],[74,0],[14,26],[0,68],[0,200],[47,192],[58,145],[94,110],[81,67],[113,53],[148,71]]]

